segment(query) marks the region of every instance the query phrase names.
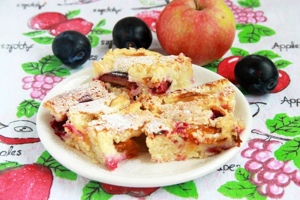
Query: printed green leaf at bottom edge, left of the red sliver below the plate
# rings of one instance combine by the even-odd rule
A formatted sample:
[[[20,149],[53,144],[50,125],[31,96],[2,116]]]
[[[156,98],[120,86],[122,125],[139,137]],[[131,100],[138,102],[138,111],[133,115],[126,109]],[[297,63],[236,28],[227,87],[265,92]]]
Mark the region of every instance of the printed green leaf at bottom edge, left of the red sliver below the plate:
[[[103,191],[100,182],[91,180],[82,188],[81,200],[107,200],[113,195]]]

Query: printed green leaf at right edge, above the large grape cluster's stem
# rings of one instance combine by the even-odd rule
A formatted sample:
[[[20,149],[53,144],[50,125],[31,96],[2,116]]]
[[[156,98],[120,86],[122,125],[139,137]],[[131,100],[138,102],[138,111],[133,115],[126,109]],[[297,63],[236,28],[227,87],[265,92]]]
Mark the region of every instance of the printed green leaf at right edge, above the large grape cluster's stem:
[[[279,113],[273,119],[266,119],[265,123],[271,133],[285,136],[300,134],[300,116],[289,117],[286,113]]]

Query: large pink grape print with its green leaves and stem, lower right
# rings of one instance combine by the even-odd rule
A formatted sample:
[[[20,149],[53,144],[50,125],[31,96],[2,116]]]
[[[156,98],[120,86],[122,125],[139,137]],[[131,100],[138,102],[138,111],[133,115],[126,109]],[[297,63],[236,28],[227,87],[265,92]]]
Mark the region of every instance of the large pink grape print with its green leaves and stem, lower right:
[[[231,198],[282,198],[291,182],[300,186],[300,116],[279,113],[265,124],[269,133],[251,132],[266,138],[249,140],[240,152],[247,161],[235,171],[237,181],[226,182],[218,192]]]

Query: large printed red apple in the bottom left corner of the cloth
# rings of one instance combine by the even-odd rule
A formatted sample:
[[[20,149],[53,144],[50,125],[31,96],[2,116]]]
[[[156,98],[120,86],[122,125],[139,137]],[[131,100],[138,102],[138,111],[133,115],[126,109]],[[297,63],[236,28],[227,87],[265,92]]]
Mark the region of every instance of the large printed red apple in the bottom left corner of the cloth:
[[[39,164],[2,169],[0,199],[48,199],[52,181],[52,171]]]

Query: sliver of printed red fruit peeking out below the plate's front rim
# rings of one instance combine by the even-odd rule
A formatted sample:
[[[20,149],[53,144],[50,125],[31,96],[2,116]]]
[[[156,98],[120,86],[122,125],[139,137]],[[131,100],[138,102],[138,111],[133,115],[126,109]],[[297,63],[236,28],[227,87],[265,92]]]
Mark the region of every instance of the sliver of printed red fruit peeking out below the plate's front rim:
[[[138,188],[138,187],[122,187],[112,184],[101,183],[102,188],[109,194],[128,194],[130,196],[140,197],[146,196],[158,189],[159,187],[148,187],[148,188]]]

